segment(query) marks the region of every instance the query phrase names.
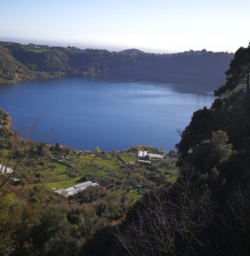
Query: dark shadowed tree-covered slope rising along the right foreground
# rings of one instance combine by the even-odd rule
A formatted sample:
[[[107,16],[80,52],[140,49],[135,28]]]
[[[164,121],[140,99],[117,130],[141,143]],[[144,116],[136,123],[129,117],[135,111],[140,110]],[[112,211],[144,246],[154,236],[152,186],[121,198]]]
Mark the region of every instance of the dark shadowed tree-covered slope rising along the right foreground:
[[[185,128],[176,184],[128,215],[117,235],[126,255],[250,255],[249,70],[250,44]]]

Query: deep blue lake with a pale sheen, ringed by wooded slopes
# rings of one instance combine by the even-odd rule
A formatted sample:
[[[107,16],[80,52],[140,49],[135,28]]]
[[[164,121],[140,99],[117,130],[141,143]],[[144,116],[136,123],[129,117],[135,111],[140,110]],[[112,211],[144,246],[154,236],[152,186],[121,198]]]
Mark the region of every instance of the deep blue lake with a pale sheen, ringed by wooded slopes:
[[[169,150],[192,113],[212,101],[211,94],[177,84],[63,77],[0,87],[0,108],[21,135],[35,122],[35,140],[89,150]]]

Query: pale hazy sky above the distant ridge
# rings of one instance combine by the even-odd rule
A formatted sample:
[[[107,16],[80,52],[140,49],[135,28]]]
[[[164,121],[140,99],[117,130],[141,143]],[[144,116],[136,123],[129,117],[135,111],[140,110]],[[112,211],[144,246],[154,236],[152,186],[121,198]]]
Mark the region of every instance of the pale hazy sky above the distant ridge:
[[[0,0],[0,37],[235,51],[250,41],[250,0]]]

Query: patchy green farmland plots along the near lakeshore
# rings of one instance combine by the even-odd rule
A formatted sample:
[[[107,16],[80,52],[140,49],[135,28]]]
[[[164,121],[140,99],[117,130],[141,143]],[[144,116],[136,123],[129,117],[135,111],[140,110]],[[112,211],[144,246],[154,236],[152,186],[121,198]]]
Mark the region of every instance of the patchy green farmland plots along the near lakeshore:
[[[46,145],[50,148],[50,145]],[[140,147],[141,150],[150,148]],[[23,163],[18,169],[32,173],[33,178],[28,182],[30,187],[42,185],[51,190],[68,188],[83,181],[93,181],[118,200],[126,200],[127,204],[133,204],[153,186],[165,186],[173,183],[178,178],[178,171],[169,167],[169,161],[152,160],[154,168],[140,165],[136,162],[137,150],[117,151],[116,153],[73,153],[70,151],[67,158],[60,153],[51,153],[32,160],[32,167]],[[154,152],[157,151],[154,149]],[[6,150],[0,151],[6,155]],[[4,159],[1,158],[0,160]],[[129,164],[128,164],[129,163]],[[15,160],[9,162],[15,165]],[[156,167],[157,166],[157,167]],[[138,186],[140,184],[140,186]],[[125,198],[125,199],[124,199]]]

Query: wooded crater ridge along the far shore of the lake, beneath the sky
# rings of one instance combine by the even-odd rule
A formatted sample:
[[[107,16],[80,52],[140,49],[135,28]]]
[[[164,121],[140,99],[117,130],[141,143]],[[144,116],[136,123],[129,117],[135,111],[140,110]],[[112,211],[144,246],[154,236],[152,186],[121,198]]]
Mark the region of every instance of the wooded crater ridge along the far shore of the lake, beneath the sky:
[[[110,52],[0,42],[0,83],[35,77],[80,75],[88,78],[190,84],[212,90],[225,82],[232,53],[187,51]],[[136,51],[136,54],[135,54]]]

